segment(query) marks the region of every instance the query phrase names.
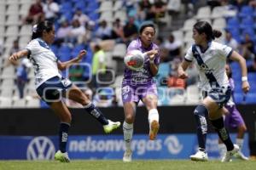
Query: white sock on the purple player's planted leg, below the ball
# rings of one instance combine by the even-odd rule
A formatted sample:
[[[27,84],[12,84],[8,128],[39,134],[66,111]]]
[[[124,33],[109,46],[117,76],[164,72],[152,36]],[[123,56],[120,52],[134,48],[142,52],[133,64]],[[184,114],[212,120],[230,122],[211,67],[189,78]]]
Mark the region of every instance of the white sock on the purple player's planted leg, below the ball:
[[[127,122],[123,123],[123,132],[125,139],[125,149],[131,150],[131,139],[133,135],[133,123],[128,124]]]

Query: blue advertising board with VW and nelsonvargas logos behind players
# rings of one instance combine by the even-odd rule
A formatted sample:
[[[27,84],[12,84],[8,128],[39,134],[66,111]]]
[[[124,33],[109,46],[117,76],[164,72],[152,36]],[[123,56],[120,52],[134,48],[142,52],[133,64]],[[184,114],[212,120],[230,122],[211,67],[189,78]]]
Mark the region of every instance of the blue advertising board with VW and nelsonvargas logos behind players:
[[[231,134],[233,141],[236,135]],[[50,160],[58,148],[57,136],[0,136],[0,159]],[[245,136],[242,152],[248,156]],[[159,134],[148,140],[145,134],[133,137],[133,159],[188,159],[197,149],[194,133]],[[69,136],[67,151],[71,159],[121,159],[125,150],[122,135]],[[218,135],[207,135],[208,156],[218,158]]]

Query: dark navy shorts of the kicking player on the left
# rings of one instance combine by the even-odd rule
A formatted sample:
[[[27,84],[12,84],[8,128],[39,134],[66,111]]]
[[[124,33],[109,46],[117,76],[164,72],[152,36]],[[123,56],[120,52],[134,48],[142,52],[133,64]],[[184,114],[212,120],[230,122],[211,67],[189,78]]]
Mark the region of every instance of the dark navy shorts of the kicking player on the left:
[[[61,94],[71,88],[70,80],[60,77],[49,78],[37,88],[37,93],[48,105],[61,100]]]

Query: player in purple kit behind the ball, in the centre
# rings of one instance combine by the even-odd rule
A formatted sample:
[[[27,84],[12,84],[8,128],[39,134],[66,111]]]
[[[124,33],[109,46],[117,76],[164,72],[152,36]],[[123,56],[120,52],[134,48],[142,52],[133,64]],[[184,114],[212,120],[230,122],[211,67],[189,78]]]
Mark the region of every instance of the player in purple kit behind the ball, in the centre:
[[[142,100],[148,110],[149,139],[154,140],[159,130],[159,114],[157,107],[157,90],[153,77],[158,72],[160,56],[158,46],[153,43],[155,28],[151,23],[144,23],[139,29],[139,37],[133,40],[129,51],[138,49],[143,52],[145,62],[139,71],[131,71],[125,67],[122,82],[122,100],[125,110],[125,122],[123,124],[125,139],[125,154],[123,161],[131,161],[131,139],[133,135],[133,122],[136,115],[137,103]]]

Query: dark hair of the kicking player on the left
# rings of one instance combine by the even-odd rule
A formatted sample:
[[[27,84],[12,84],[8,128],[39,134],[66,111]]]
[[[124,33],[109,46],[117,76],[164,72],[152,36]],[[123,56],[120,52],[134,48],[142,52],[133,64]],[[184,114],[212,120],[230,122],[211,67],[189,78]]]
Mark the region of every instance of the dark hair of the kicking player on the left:
[[[53,29],[53,23],[49,20],[39,22],[37,25],[32,27],[32,40],[43,36],[43,31],[49,32]]]

